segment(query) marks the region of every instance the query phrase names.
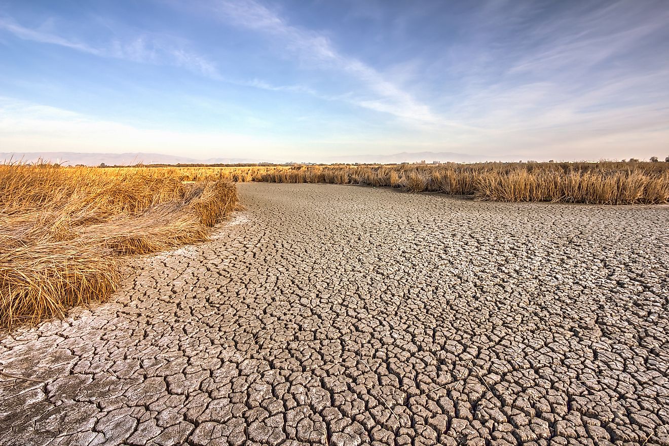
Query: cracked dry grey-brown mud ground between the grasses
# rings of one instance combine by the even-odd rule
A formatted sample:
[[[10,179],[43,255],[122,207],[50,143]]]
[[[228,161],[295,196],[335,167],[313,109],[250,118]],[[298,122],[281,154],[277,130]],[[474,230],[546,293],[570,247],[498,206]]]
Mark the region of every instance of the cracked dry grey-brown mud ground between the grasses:
[[[669,207],[239,185],[0,341],[3,445],[668,445]]]

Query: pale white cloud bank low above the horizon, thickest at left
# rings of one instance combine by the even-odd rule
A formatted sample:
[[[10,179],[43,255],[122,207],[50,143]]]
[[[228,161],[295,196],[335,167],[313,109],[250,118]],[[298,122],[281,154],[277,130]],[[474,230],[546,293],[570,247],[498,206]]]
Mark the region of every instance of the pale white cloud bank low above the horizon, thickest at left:
[[[219,104],[212,104],[217,108]],[[142,128],[63,108],[0,96],[0,147],[11,152],[153,152],[193,158],[252,158],[276,162],[326,161],[355,147],[369,152],[436,148],[413,138],[338,134],[327,138],[262,138],[223,131]],[[439,148],[442,148],[440,146]],[[0,160],[1,162],[1,160]]]

